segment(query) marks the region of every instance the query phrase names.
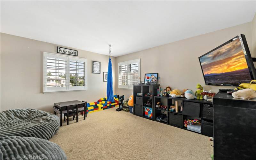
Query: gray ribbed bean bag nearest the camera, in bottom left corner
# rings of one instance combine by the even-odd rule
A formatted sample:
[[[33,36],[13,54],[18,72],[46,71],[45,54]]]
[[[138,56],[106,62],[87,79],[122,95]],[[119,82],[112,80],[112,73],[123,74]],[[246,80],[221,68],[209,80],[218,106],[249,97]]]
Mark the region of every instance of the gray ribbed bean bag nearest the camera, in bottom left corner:
[[[1,137],[0,159],[66,160],[65,152],[57,144],[34,137]]]

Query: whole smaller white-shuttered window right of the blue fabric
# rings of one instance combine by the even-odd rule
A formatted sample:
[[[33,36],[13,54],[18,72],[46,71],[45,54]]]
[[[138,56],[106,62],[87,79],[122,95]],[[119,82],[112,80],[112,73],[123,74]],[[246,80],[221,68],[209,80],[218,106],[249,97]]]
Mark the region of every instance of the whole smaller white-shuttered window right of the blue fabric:
[[[132,89],[140,82],[140,59],[118,63],[118,88]]]

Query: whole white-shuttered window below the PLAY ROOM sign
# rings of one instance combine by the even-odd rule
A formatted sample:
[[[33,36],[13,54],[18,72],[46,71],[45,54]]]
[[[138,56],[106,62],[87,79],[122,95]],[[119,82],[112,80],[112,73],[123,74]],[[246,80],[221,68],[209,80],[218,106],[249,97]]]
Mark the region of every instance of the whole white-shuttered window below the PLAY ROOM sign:
[[[44,52],[44,93],[87,89],[86,59]]]

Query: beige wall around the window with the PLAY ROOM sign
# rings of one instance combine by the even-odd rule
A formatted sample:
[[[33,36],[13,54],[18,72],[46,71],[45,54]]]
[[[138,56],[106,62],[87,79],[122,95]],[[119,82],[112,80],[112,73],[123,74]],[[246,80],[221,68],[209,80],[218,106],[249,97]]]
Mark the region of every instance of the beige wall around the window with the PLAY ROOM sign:
[[[78,50],[78,57],[87,58],[88,90],[43,94],[43,52],[56,53],[57,46],[1,33],[1,111],[36,108],[53,112],[55,102],[106,97],[103,72],[108,71],[108,56],[83,50]],[[116,57],[111,59],[115,93]],[[92,60],[101,62],[101,74],[92,74]]]

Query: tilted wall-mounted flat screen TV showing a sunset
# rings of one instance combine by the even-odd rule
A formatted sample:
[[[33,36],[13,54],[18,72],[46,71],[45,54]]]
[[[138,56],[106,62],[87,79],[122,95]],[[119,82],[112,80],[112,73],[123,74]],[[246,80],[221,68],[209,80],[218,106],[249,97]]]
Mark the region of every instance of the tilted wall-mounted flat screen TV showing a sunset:
[[[252,57],[243,34],[199,57],[206,85],[239,86],[256,78]]]

